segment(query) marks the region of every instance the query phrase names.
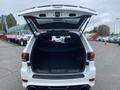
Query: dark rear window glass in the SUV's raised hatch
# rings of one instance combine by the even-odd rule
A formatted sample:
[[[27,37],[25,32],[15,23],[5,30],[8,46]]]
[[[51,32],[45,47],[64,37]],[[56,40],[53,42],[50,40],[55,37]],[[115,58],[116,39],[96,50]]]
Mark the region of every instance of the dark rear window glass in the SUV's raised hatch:
[[[82,28],[88,18],[90,18],[89,15],[65,18],[27,17],[27,19],[32,20],[32,24],[37,29],[79,29]]]

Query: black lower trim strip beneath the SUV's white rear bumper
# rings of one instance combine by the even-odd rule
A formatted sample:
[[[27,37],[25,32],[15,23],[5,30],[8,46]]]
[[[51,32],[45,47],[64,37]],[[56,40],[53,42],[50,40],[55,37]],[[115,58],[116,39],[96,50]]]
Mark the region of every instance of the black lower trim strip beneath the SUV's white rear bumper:
[[[79,86],[61,86],[61,87],[46,87],[46,86],[28,86],[28,90],[88,90],[90,88],[89,85],[79,85]]]

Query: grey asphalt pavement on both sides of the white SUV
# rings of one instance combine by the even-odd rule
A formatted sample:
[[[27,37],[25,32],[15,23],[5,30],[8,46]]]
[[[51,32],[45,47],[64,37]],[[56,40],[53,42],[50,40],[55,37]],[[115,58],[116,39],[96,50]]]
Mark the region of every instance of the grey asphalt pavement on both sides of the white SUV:
[[[120,90],[120,46],[90,42],[96,53],[97,78],[92,90]],[[0,41],[0,90],[24,90],[20,80],[24,47]]]

